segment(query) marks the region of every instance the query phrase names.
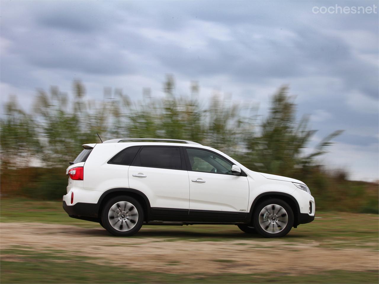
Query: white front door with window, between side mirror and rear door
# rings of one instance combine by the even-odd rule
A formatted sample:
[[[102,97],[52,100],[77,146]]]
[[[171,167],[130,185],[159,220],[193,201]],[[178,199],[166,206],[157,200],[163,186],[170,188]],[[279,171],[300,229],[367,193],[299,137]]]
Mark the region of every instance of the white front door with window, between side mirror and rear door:
[[[185,154],[189,175],[189,215],[244,217],[249,202],[247,177],[233,175],[233,163],[213,151],[186,148]]]

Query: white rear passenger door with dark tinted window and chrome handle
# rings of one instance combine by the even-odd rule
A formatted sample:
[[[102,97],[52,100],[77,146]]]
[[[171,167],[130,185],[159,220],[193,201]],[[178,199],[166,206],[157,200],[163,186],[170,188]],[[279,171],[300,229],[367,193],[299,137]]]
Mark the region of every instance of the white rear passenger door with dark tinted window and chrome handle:
[[[152,214],[188,215],[189,184],[182,147],[141,147],[128,179],[130,188],[149,198]]]

